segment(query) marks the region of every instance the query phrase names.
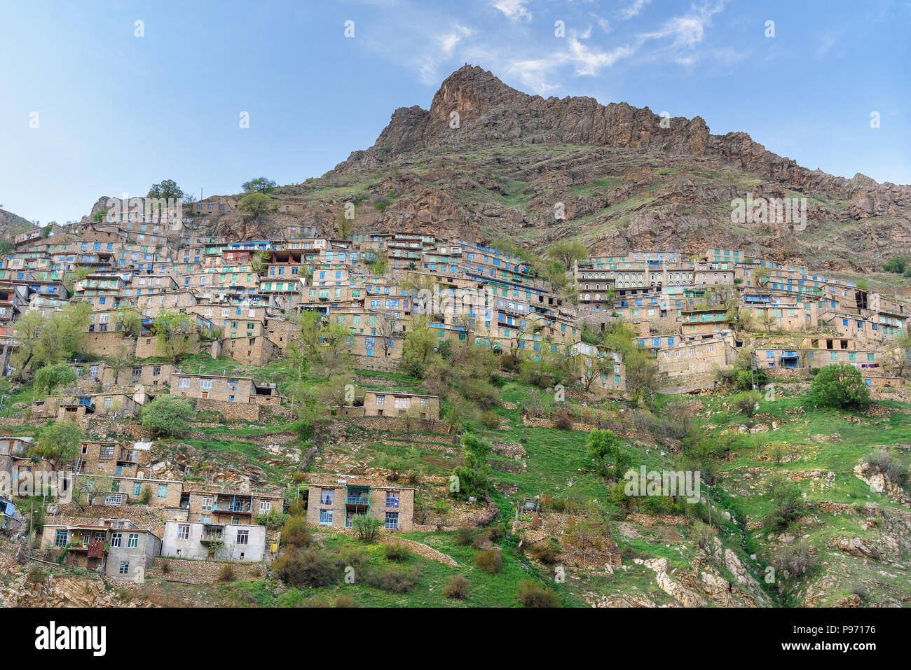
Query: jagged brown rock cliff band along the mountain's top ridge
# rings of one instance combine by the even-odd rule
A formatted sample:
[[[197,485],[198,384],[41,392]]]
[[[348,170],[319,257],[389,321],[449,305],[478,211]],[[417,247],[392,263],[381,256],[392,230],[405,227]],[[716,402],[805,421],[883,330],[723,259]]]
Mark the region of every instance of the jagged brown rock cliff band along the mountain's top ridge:
[[[453,127],[453,113],[458,115],[457,127]],[[713,157],[771,181],[851,198],[858,213],[867,216],[911,205],[911,186],[878,184],[860,174],[845,179],[808,170],[766,150],[746,133],[711,135],[701,117],[662,119],[648,107],[600,105],[592,97],[529,96],[477,66],[463,66],[448,76],[429,111],[395,110],[374,147],[354,152],[336,170],[373,169],[422,145],[457,147],[514,140]]]

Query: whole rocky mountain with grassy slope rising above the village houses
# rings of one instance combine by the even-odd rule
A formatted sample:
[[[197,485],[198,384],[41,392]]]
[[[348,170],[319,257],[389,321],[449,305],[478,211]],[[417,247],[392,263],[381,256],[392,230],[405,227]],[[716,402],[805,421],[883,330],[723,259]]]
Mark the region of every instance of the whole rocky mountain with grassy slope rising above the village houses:
[[[465,205],[461,229],[482,238],[578,238],[593,252],[723,244],[865,271],[886,249],[911,246],[911,187],[809,170],[745,133],[711,135],[700,117],[670,118],[667,127],[662,120],[626,103],[528,96],[464,66],[445,79],[429,110],[395,110],[373,147],[312,186],[351,187],[385,173],[381,186],[396,195],[438,188],[434,195],[451,199],[449,208]],[[807,228],[732,224],[731,200],[748,193],[807,198]],[[558,202],[565,220],[554,216]],[[419,224],[414,211],[398,216],[402,205],[386,209],[386,223]]]

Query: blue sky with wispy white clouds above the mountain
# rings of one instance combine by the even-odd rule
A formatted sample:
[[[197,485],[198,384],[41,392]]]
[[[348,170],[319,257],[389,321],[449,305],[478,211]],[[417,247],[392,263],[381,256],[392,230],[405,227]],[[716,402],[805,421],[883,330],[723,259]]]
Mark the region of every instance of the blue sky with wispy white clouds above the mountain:
[[[197,196],[298,183],[466,62],[909,184],[909,16],[906,0],[0,0],[0,206],[62,223],[166,178]]]

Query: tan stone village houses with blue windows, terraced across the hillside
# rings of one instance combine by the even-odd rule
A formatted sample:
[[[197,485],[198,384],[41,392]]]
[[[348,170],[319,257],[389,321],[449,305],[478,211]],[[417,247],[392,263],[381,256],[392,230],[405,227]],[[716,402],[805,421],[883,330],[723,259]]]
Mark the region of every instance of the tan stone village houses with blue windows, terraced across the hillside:
[[[343,329],[362,369],[394,370],[420,320],[440,347],[470,342],[515,357],[568,357],[586,389],[620,393],[627,390],[623,356],[584,341],[583,331],[606,332],[623,321],[669,390],[711,388],[712,371],[737,359],[744,330],[752,338],[752,365],[768,376],[846,362],[876,390],[897,383],[886,363],[906,328],[904,303],[738,249],[584,259],[567,272],[574,295],[538,277],[527,260],[466,240],[404,232],[338,239],[320,226],[240,241],[191,231],[205,228],[207,214],[234,205],[232,198],[209,198],[190,206],[187,219],[167,209],[148,215],[125,208],[16,237],[0,267],[4,374],[21,344],[16,320],[29,311],[49,316],[75,301],[89,309],[87,362],[71,364],[74,385],[34,399],[33,418],[138,417],[162,393],[228,420],[260,421],[263,412],[289,404],[271,382],[164,362],[156,332],[162,314],[181,315],[184,328],[174,337],[189,353],[253,367],[292,350],[301,315],[314,312],[322,324]],[[138,322],[125,321],[124,310],[134,310]],[[441,408],[435,396],[391,390],[367,391],[336,411],[432,421]],[[14,482],[51,467],[27,454],[30,442],[0,438],[0,472]],[[135,581],[161,557],[271,560],[280,537],[268,520],[283,511],[281,492],[168,479],[151,446],[83,443],[65,464],[72,475],[65,485],[77,500],[54,510],[41,538],[48,558],[63,553],[68,564]],[[377,517],[390,532],[414,525],[409,487],[312,475],[302,493],[314,525],[351,528],[357,514]],[[145,510],[154,511],[151,520],[137,513]],[[5,513],[4,523],[11,519]]]

